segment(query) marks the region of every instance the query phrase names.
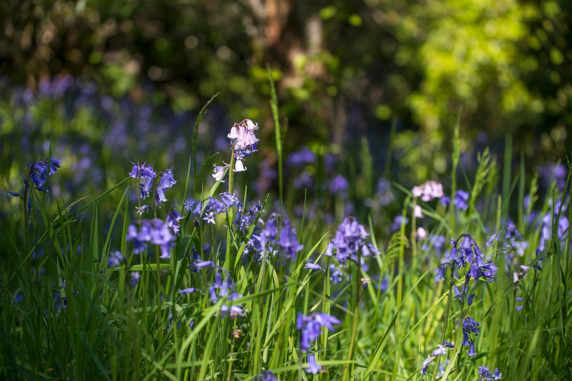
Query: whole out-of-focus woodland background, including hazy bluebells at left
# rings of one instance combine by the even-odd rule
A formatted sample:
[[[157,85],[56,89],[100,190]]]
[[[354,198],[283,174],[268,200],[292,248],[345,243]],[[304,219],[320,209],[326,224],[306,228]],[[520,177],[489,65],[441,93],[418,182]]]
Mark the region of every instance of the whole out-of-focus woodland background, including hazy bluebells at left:
[[[332,154],[347,173],[365,147],[375,175],[442,179],[462,107],[464,169],[510,142],[531,173],[572,148],[570,20],[566,1],[2,1],[1,186],[50,141],[68,173],[56,194],[102,189],[136,159],[184,175],[197,112],[220,92],[201,157],[251,118],[275,187],[267,65],[287,153]]]

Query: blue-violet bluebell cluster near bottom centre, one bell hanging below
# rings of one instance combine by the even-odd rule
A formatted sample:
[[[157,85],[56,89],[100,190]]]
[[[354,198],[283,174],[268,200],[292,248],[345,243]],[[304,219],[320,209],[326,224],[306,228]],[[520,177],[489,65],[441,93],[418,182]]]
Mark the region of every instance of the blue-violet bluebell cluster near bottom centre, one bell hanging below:
[[[333,324],[341,324],[341,322],[328,314],[315,312],[309,316],[304,316],[302,312],[299,312],[296,318],[296,328],[301,332],[300,350],[303,353],[308,352],[313,342],[320,337],[321,329],[327,328],[330,332],[333,332]],[[317,374],[322,368],[316,363],[316,356],[313,354],[308,355],[308,364],[307,371],[312,374]]]

